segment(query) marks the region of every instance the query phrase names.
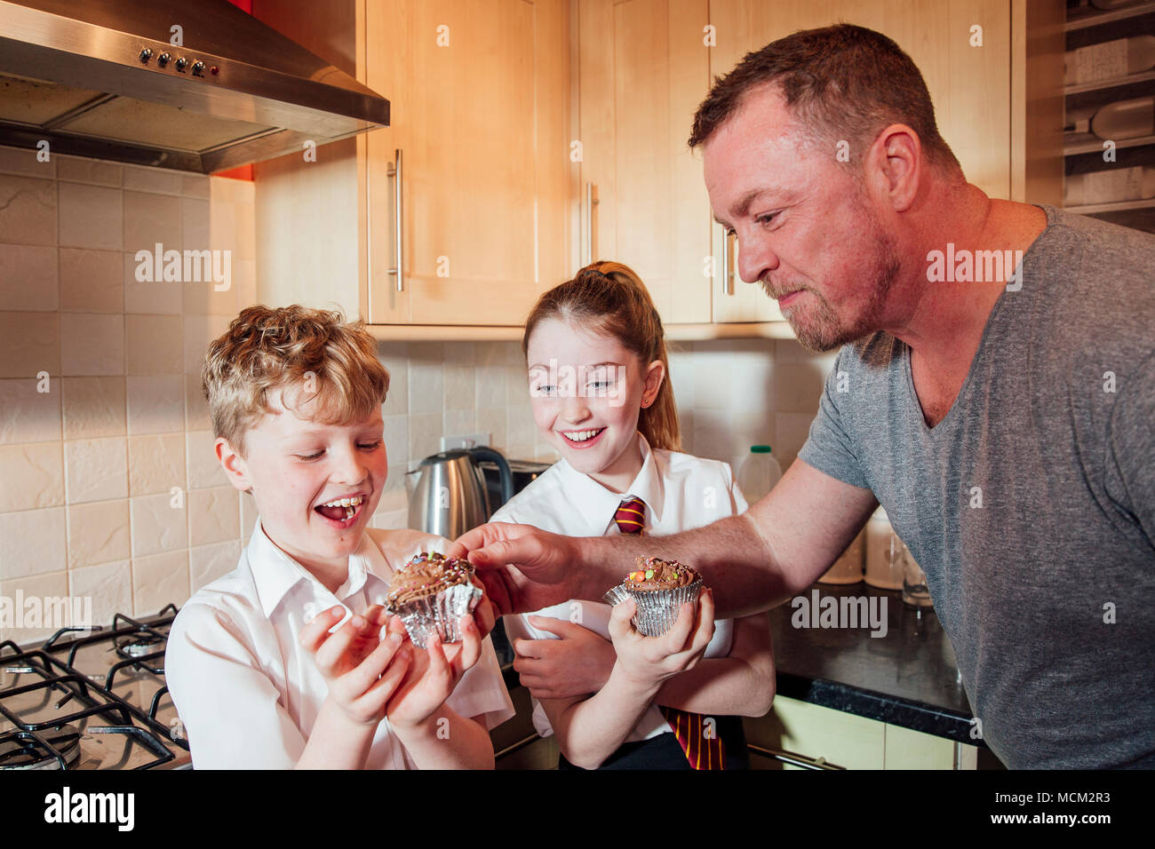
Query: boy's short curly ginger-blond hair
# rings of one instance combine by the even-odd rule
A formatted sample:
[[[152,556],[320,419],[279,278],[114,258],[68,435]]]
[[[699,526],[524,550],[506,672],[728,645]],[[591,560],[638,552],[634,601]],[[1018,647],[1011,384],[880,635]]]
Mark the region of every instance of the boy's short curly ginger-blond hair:
[[[275,412],[270,390],[299,388],[297,407],[315,402],[311,419],[344,425],[385,402],[389,372],[364,322],[296,304],[259,305],[241,310],[209,344],[201,388],[215,435],[244,456],[245,432]]]

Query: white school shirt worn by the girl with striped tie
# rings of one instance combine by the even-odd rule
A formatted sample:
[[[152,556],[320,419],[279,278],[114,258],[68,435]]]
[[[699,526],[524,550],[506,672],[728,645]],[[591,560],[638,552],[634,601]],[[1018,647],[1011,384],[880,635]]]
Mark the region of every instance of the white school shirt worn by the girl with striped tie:
[[[640,432],[638,447],[642,454],[642,468],[624,494],[610,492],[589,475],[575,470],[566,460],[559,460],[505,504],[490,521],[532,524],[566,536],[613,536],[621,533],[613,521],[620,504],[627,498],[640,498],[646,502],[646,534],[669,536],[746,511],[746,499],[735,484],[729,463],[650,449],[649,441]],[[626,571],[623,569],[621,574],[624,578]],[[609,640],[611,610],[609,604],[601,602],[571,599],[536,613],[507,616],[501,621],[511,645],[517,638],[558,639],[530,625],[529,616],[564,621],[578,619],[576,624]],[[733,620],[715,620],[714,636],[706,647],[705,656],[725,657],[730,654],[732,639]],[[543,737],[553,733],[545,709],[537,699],[534,699],[534,727]],[[650,705],[625,742],[649,739],[670,730],[662,712]]]

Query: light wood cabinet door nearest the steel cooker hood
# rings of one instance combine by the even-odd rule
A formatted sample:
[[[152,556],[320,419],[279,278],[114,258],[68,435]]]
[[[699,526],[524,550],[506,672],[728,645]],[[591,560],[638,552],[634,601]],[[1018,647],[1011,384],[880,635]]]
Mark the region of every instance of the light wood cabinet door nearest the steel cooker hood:
[[[565,268],[565,3],[367,3],[366,77],[393,125],[368,136],[372,320],[521,323]]]

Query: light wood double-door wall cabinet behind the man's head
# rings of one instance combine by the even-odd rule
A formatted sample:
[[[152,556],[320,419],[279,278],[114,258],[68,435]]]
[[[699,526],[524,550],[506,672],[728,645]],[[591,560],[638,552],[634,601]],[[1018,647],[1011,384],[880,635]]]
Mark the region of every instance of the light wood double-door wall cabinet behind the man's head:
[[[1044,39],[1053,42],[1046,33],[1061,20],[1061,0],[583,0],[579,14],[582,180],[598,201],[594,253],[634,266],[668,323],[782,320],[775,301],[738,276],[733,239],[723,269],[700,154],[685,140],[708,90],[703,61],[711,80],[799,29],[845,21],[885,32],[922,70],[939,129],[971,183],[992,198],[1058,202],[1061,44]],[[715,39],[708,47],[706,24]],[[1028,43],[1031,32],[1042,38]],[[705,255],[718,275],[703,286]]]

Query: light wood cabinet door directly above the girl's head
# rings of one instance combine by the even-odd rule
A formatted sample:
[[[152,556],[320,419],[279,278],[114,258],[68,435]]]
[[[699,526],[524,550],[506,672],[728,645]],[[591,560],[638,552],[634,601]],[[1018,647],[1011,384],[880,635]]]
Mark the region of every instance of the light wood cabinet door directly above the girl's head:
[[[701,158],[686,147],[709,88],[708,2],[589,0],[578,15],[593,259],[638,271],[664,322],[709,322],[709,202]],[[588,251],[587,241],[583,262]]]

